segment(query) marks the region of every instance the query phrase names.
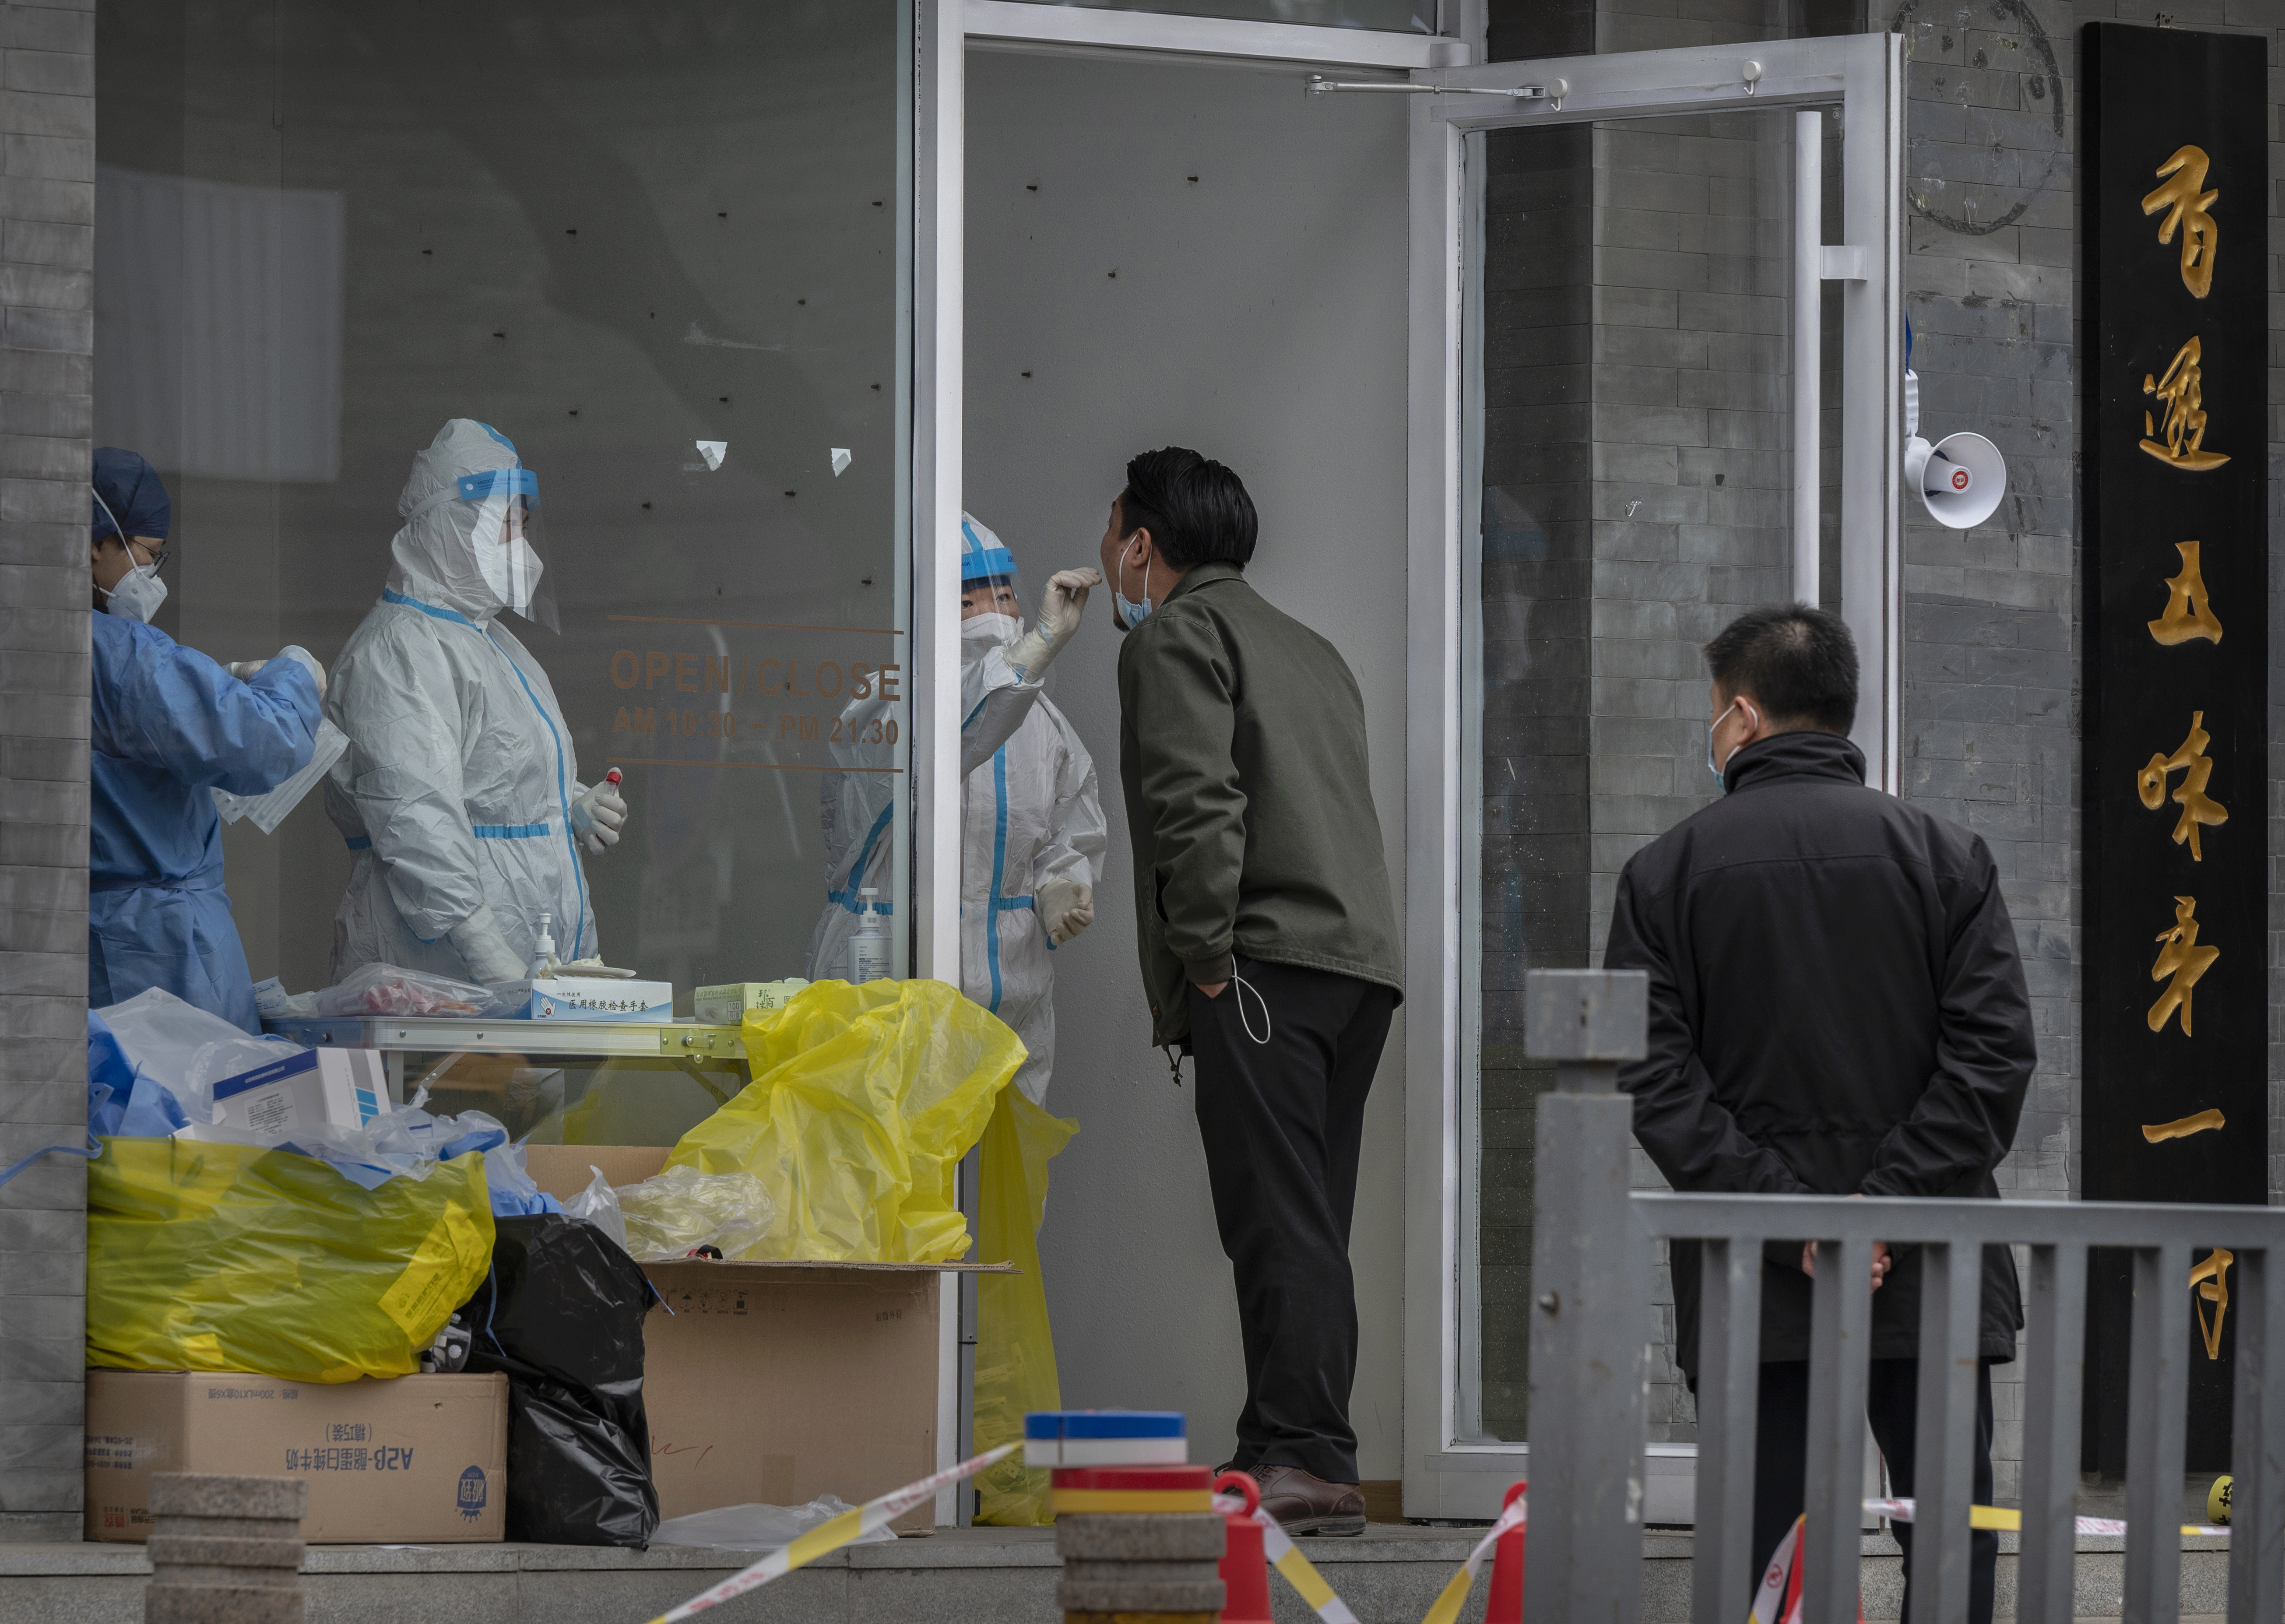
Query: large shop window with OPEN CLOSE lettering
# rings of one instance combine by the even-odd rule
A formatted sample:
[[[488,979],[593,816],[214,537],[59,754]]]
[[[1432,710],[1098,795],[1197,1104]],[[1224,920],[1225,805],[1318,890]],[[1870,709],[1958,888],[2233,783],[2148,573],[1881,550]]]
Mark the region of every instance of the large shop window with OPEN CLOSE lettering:
[[[891,809],[907,916],[903,11],[101,14],[96,441],[174,491],[160,626],[331,662],[414,452],[494,425],[537,475],[560,633],[503,624],[578,777],[626,779],[626,838],[585,859],[601,950],[683,1010],[809,973],[843,765]],[[226,847],[254,975],[324,984],[352,857],[320,797]]]

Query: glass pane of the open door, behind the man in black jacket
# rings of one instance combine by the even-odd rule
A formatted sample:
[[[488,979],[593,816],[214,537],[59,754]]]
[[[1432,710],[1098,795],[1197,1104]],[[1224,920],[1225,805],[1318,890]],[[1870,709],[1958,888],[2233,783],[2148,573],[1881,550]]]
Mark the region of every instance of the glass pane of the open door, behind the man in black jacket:
[[[1469,137],[1462,1437],[1529,1439],[1533,1121],[1554,1067],[1524,1055],[1524,973],[1602,964],[1625,861],[1721,793],[1702,644],[1791,592],[1794,139],[1791,110]],[[1807,313],[1828,329],[1823,402],[1837,317],[1837,288]],[[1814,546],[1837,608],[1837,404],[1821,416]],[[1663,1256],[1654,1291],[1650,1439],[1686,1444]]]

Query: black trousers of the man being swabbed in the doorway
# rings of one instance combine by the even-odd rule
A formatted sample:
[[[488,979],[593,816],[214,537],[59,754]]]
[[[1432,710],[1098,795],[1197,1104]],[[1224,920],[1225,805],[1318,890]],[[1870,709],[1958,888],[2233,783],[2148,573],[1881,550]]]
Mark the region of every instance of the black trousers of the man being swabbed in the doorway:
[[[1218,998],[1190,989],[1197,1135],[1245,1338],[1245,1409],[1232,1464],[1300,1466],[1325,1482],[1357,1482],[1348,1217],[1364,1096],[1396,994],[1245,955],[1236,973],[1245,984],[1232,980]]]

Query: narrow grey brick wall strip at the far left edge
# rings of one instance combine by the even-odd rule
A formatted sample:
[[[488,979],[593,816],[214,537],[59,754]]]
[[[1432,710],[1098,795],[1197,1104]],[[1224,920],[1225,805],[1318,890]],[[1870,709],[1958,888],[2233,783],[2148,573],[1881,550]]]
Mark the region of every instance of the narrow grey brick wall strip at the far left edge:
[[[0,5],[0,1167],[87,1128],[91,5]],[[80,1535],[87,1163],[0,1188],[0,1539]]]

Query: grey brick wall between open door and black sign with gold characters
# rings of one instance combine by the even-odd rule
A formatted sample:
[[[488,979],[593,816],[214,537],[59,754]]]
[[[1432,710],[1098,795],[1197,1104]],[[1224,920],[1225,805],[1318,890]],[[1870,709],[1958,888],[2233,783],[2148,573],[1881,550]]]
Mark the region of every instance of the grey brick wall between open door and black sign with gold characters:
[[[2084,11],[2084,7],[2082,7]],[[1906,313],[1924,434],[1974,427],[2009,464],[1990,523],[1906,503],[1903,795],[1999,866],[2038,1023],[2004,1195],[2077,1192],[2077,439],[2072,85],[2059,0],[1876,0],[1906,37]],[[2018,1366],[1993,1382],[1997,1494],[2022,1482]]]

